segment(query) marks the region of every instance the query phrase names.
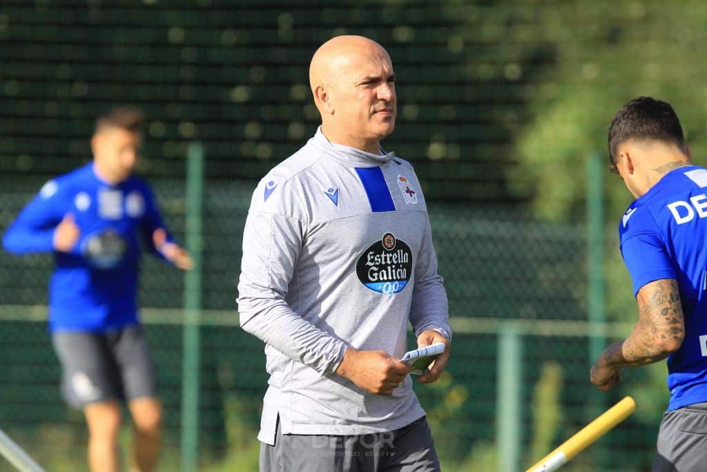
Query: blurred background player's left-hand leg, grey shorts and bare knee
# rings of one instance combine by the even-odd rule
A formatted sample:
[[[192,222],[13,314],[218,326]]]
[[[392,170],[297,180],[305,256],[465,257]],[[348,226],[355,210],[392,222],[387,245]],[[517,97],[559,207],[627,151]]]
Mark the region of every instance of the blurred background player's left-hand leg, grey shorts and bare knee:
[[[62,393],[83,410],[88,425],[88,463],[94,472],[117,471],[120,428],[119,376],[105,336],[57,332],[54,350],[62,364]]]

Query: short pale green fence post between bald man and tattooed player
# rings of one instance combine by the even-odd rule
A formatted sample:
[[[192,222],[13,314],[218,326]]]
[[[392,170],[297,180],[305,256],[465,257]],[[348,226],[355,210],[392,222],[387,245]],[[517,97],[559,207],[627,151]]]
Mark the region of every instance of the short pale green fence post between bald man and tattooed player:
[[[496,393],[496,454],[498,472],[520,471],[520,362],[522,342],[513,321],[501,323],[498,332],[498,385]]]

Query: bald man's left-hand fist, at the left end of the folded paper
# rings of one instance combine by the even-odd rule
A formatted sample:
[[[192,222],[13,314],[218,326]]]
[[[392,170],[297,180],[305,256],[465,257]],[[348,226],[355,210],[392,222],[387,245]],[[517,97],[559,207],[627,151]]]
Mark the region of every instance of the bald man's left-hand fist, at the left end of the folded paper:
[[[390,395],[411,370],[412,367],[387,355],[385,351],[359,351],[349,347],[344,352],[337,374],[369,393]]]

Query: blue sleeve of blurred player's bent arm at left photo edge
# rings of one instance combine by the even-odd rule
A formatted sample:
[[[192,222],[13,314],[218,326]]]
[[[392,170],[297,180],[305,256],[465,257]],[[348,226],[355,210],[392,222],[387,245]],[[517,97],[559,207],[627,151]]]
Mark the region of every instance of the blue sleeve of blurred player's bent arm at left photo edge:
[[[54,251],[54,229],[65,213],[59,184],[50,180],[5,231],[5,250],[15,254]]]

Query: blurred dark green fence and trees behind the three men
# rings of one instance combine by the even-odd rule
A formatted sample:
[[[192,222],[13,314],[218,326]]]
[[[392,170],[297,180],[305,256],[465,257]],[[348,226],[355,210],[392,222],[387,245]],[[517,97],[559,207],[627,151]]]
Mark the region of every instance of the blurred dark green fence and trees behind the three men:
[[[645,471],[665,364],[624,371],[611,393],[588,380],[636,319],[617,241],[631,196],[607,171],[607,127],[631,98],[667,100],[705,163],[706,24],[696,0],[2,0],[0,229],[90,160],[98,113],[139,105],[139,173],[180,241],[203,246],[191,278],[142,270],[160,470],[257,470],[267,375],[235,304],[250,194],[315,132],[312,53],[366,35],[392,57],[385,146],[414,163],[450,299],[448,372],[416,386],[444,470],[525,470],[631,395],[636,413],[563,470]],[[47,470],[84,471],[86,428],[47,333],[51,265],[0,253],[0,428]]]

